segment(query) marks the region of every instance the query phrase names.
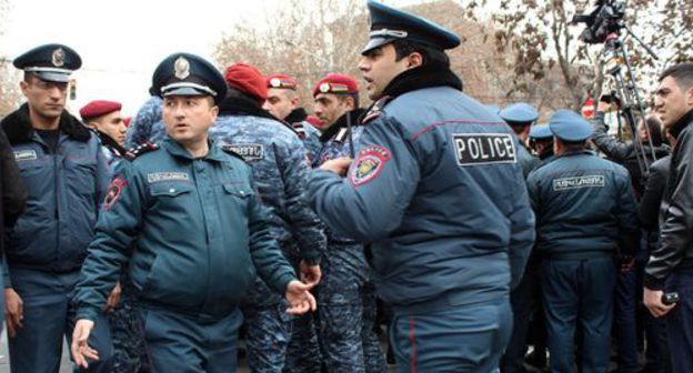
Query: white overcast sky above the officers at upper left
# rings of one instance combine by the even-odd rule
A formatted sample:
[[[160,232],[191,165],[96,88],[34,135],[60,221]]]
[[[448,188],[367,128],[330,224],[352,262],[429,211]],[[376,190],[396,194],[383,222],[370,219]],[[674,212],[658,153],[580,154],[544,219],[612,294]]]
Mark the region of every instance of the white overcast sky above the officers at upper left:
[[[284,0],[291,1],[291,0]],[[303,0],[319,1],[319,0]],[[390,0],[400,6],[415,0]],[[0,57],[13,59],[49,42],[82,57],[73,113],[93,99],[123,103],[133,115],[147,100],[151,73],[164,57],[187,51],[211,60],[222,32],[241,20],[262,22],[280,0],[9,0]],[[365,4],[365,0],[363,1]],[[364,30],[365,32],[365,30]]]

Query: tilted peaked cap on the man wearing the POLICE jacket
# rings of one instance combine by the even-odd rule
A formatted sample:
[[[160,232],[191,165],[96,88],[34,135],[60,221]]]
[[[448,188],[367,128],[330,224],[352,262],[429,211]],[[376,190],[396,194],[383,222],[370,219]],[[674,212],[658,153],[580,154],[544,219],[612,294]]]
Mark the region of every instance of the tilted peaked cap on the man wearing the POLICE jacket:
[[[361,54],[370,50],[405,39],[440,50],[460,46],[460,38],[424,18],[390,8],[381,2],[369,0],[371,13],[370,39]]]

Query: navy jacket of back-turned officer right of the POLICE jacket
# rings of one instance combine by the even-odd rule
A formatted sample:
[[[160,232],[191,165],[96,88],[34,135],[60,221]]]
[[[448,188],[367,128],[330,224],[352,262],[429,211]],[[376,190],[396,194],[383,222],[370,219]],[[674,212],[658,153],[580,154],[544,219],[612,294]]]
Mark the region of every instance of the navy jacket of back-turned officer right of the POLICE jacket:
[[[552,259],[633,255],[637,206],[629,172],[590,151],[556,157],[528,178],[536,250]]]

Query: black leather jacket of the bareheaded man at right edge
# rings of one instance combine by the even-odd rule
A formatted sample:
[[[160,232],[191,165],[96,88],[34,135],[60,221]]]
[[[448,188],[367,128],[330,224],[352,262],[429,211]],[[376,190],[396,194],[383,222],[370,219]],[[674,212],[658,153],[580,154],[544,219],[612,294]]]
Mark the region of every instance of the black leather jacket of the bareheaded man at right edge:
[[[672,125],[679,133],[662,200],[662,233],[645,268],[644,284],[651,290],[664,289],[666,276],[693,266],[693,110]]]

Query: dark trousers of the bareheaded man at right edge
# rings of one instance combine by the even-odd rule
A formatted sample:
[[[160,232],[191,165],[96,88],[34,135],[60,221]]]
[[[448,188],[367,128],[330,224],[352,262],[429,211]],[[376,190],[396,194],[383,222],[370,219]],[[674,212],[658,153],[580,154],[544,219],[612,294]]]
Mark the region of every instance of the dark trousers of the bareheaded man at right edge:
[[[693,372],[693,268],[677,269],[666,279],[666,292],[679,303],[666,314],[666,334],[675,373]]]

